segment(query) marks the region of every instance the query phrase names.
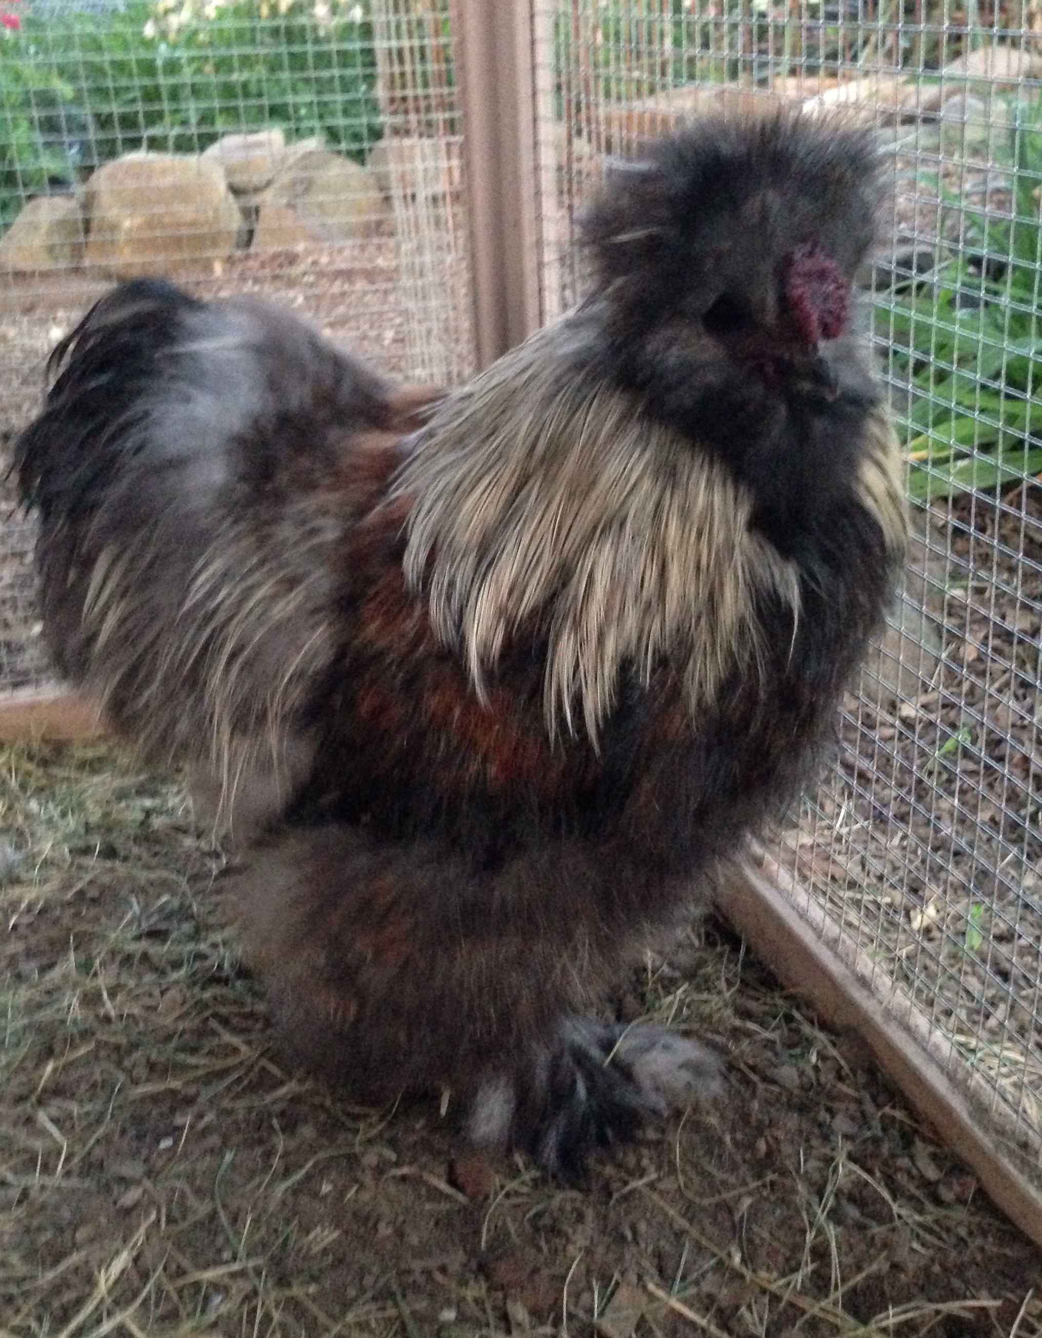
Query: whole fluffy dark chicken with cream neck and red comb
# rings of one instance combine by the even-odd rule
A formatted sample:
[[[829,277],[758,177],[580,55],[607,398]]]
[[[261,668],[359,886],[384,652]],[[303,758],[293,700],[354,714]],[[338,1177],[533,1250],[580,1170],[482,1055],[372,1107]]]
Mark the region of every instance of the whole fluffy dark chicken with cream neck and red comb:
[[[659,142],[587,219],[592,296],[426,421],[254,300],[127,284],[55,351],[16,467],[58,666],[265,828],[250,959],[356,1097],[568,1175],[717,1086],[584,1014],[792,801],[880,622],[877,195],[837,126]]]

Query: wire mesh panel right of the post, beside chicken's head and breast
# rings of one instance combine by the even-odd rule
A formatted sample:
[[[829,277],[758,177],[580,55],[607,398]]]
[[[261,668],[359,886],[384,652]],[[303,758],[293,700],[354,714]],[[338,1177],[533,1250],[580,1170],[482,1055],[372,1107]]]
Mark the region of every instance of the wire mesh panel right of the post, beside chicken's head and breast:
[[[892,170],[864,276],[915,542],[775,880],[1042,1165],[1042,20],[1037,5],[537,0],[545,305],[605,154],[722,106],[845,106]]]

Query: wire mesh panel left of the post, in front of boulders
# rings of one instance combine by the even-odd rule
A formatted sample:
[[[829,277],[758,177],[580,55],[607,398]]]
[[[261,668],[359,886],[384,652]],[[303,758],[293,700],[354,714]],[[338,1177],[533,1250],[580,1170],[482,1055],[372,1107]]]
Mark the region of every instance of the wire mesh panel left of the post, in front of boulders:
[[[474,363],[447,0],[4,0],[0,474],[48,348],[114,278],[257,292],[375,367]],[[0,692],[39,686],[0,495]]]

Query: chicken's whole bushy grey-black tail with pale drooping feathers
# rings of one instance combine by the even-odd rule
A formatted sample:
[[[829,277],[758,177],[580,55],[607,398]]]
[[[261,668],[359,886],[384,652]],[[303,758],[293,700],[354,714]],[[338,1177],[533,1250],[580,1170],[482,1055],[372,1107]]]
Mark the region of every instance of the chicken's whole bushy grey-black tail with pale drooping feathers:
[[[103,297],[51,369],[13,468],[58,669],[225,809],[257,776],[279,792],[307,768],[335,549],[375,468],[359,443],[392,443],[434,396],[395,395],[260,300],[154,280]]]

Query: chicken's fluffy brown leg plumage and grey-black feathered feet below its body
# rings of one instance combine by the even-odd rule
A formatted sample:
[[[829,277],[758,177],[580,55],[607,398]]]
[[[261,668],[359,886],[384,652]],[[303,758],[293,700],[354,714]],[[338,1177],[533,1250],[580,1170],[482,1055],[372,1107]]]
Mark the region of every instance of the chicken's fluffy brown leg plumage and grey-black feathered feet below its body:
[[[721,1090],[694,1041],[576,1016],[631,946],[577,895],[601,866],[561,843],[483,871],[312,828],[264,846],[234,900],[293,1057],[363,1101],[447,1093],[475,1145],[580,1180],[595,1148]]]

